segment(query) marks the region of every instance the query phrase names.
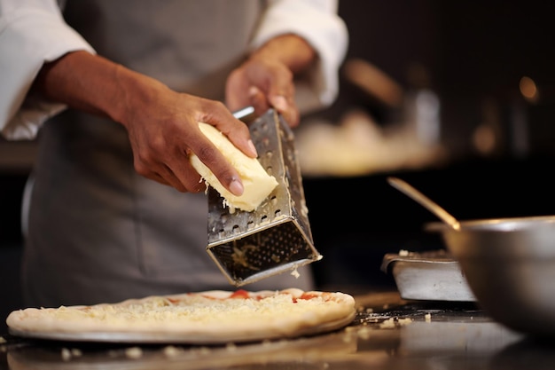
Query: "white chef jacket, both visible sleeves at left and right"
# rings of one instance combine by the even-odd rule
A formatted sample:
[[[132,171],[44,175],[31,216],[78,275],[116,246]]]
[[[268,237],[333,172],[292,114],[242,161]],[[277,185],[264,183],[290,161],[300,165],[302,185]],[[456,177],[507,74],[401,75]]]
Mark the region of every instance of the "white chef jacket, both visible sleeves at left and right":
[[[69,51],[95,50],[66,25],[59,4],[66,0],[0,0],[0,130],[5,138],[35,138],[41,124],[65,106],[28,97],[44,62]],[[251,49],[283,33],[301,35],[316,49],[319,65],[310,86],[297,87],[302,111],[328,106],[338,93],[337,71],[348,32],[337,17],[337,0],[270,0]],[[305,86],[306,87],[306,86]]]

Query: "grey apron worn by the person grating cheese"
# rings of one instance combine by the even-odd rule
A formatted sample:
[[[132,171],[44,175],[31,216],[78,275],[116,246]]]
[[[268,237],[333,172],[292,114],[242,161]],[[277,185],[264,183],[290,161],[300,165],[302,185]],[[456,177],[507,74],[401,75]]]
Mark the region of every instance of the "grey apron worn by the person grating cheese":
[[[67,0],[66,21],[98,54],[176,91],[223,100],[264,3],[257,0]],[[127,132],[68,110],[46,122],[24,249],[27,306],[233,289],[206,253],[205,194],[137,175]],[[308,268],[248,289],[310,289]]]

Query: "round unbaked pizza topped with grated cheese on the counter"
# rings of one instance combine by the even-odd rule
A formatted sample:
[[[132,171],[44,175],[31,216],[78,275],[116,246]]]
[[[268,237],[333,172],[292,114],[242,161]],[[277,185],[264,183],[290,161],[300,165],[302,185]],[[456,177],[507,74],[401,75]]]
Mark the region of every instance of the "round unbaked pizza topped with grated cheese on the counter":
[[[94,342],[225,343],[314,335],[347,326],[355,299],[340,292],[246,290],[148,296],[120,303],[12,311],[12,335]]]

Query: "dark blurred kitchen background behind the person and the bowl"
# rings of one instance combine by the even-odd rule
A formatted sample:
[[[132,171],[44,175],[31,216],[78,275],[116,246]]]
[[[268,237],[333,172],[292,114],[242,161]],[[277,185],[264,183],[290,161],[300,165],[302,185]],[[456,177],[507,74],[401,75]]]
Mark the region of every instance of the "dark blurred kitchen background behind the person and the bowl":
[[[459,219],[555,214],[549,2],[341,1],[340,97],[296,131],[322,289],[394,287],[386,253],[442,248],[401,177]],[[33,142],[0,141],[0,317],[20,305]],[[7,314],[7,313],[6,313]]]

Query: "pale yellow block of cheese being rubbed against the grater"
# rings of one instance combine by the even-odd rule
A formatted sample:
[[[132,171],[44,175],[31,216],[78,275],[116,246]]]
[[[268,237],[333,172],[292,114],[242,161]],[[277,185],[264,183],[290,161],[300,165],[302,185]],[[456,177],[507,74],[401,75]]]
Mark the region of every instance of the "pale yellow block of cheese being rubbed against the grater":
[[[260,161],[241,152],[214,126],[199,122],[199,128],[230,161],[231,165],[237,169],[245,191],[241,196],[230,193],[195,154],[191,156],[192,167],[199,172],[199,175],[204,178],[208,185],[214,187],[222,195],[226,205],[231,210],[242,209],[250,212],[257,209],[277,186],[276,177],[270,176],[262,167]]]

